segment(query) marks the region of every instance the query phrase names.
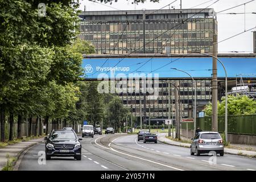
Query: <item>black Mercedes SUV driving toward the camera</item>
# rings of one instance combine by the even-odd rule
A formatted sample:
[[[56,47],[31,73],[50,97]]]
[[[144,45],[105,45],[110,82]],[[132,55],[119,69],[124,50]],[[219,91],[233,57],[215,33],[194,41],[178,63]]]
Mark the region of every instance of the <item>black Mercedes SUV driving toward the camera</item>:
[[[81,160],[81,143],[73,130],[52,130],[46,140],[46,160],[52,156],[73,156]]]

